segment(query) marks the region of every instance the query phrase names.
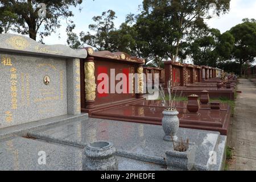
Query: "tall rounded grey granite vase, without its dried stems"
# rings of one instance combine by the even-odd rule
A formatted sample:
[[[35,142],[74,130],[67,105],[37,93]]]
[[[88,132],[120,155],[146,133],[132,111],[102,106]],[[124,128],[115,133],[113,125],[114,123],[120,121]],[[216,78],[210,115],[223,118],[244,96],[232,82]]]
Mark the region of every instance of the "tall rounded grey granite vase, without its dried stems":
[[[165,141],[172,142],[172,139],[177,140],[177,131],[180,126],[178,114],[179,112],[176,109],[163,111],[162,126],[166,134],[163,138]]]

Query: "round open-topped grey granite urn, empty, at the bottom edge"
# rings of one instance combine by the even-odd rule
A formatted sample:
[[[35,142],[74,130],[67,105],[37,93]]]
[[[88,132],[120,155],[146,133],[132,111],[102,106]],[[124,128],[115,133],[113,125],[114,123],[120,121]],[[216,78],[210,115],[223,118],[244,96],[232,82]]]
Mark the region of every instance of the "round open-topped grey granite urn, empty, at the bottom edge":
[[[89,143],[84,148],[84,171],[117,171],[118,163],[114,156],[113,144],[106,141]]]

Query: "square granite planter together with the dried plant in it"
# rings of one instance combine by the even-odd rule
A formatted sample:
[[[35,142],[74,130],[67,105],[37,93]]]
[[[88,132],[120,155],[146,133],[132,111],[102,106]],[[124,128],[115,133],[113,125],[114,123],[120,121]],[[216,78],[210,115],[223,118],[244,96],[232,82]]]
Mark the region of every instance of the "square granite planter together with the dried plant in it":
[[[195,163],[195,146],[189,145],[189,140],[173,142],[174,150],[166,151],[167,169],[191,171]]]

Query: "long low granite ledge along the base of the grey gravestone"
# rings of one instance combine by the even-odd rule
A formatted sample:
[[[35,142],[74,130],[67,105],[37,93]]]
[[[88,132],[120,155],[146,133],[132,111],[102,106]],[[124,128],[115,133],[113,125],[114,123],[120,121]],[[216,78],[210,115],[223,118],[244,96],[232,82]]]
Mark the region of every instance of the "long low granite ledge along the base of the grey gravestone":
[[[14,135],[24,136],[27,135],[28,131],[30,130],[43,129],[44,127],[52,127],[58,123],[84,120],[87,118],[87,113],[82,113],[81,115],[61,115],[59,117],[42,119],[34,122],[24,123],[22,125],[10,126],[0,129],[0,139],[13,137]]]

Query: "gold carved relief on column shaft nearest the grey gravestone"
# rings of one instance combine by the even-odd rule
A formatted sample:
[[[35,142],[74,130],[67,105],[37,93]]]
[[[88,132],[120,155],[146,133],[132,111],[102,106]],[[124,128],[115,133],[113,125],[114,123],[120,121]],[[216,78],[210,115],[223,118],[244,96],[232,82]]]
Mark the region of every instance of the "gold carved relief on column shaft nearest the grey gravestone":
[[[84,65],[85,72],[85,100],[94,101],[96,98],[96,84],[94,76],[94,63],[87,62]]]

